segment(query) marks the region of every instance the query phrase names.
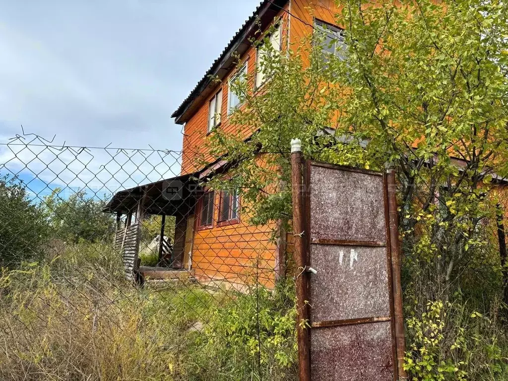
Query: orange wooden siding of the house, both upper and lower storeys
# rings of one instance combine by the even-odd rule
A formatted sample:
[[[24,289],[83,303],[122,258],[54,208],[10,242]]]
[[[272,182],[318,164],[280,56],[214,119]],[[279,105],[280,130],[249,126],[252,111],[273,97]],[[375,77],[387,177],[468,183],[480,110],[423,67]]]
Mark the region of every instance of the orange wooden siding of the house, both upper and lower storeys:
[[[321,0],[318,3],[310,5],[306,0],[291,0],[287,10],[309,24],[313,23],[313,15],[323,21],[334,23],[334,11],[328,9],[336,11],[333,0]],[[313,15],[309,13],[308,7],[315,9]],[[278,17],[282,20],[283,49],[288,47],[288,40],[297,45],[301,38],[312,33],[312,28],[302,21],[295,17],[291,17],[290,20],[287,12],[281,10]],[[247,62],[247,72],[251,78],[249,85],[252,88],[256,71],[256,53],[256,49],[252,47],[241,57],[242,62]],[[206,158],[209,163],[216,159],[207,155],[208,103],[220,88],[223,90],[223,100],[219,128],[231,133],[238,129],[238,126],[233,125],[228,118],[228,80],[232,74],[234,69],[224,78],[223,83],[216,86],[209,99],[185,124],[182,174],[201,169],[202,166],[198,164],[200,158]],[[257,276],[259,281],[272,287],[275,281],[277,247],[271,238],[276,230],[276,224],[251,226],[246,223],[247,218],[242,217],[240,212],[240,223],[217,226],[219,201],[219,194],[216,192],[213,227],[200,229],[196,226],[195,229],[192,263],[196,277],[201,281],[214,281],[220,288],[230,283],[233,287],[242,289]],[[199,220],[198,213],[199,210],[196,211],[196,224]],[[287,240],[287,250],[291,251],[293,246],[291,234],[288,234]],[[225,282],[226,280],[228,282]]]

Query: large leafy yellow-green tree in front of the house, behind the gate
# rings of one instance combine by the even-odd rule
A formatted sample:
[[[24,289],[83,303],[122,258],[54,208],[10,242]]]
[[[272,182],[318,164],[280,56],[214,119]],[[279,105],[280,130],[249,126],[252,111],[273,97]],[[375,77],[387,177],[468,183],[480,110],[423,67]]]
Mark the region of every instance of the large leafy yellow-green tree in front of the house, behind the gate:
[[[270,79],[260,90],[252,89],[252,78],[232,83],[244,104],[231,116],[237,128],[217,128],[208,146],[215,158],[234,164],[233,177],[216,177],[211,186],[239,187],[252,222],[267,223],[291,218],[293,138],[302,140],[308,158],[377,170],[391,163],[399,184],[408,316],[424,319],[429,301],[458,303],[463,312],[497,310],[502,266],[492,229],[502,195],[496,179],[508,174],[508,6],[337,3],[341,57],[324,56],[324,37],[314,30],[288,54],[267,54]],[[497,321],[495,311],[490,321]],[[448,319],[443,330],[453,331],[454,324],[464,329]],[[494,337],[488,329],[484,338]],[[446,345],[439,354],[450,364],[463,361],[461,377],[485,376],[486,364],[472,365],[472,358],[484,361],[487,347],[483,355],[479,348],[458,355]],[[469,351],[474,343],[463,346]],[[433,378],[439,371],[429,366],[418,377],[445,379]]]

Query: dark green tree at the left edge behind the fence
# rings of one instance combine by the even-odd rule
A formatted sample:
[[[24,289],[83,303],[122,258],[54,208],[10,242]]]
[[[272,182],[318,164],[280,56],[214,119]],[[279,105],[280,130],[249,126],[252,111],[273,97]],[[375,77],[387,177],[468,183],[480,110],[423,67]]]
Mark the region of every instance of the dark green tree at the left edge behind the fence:
[[[0,266],[42,257],[48,238],[43,209],[30,200],[24,184],[0,177]]]

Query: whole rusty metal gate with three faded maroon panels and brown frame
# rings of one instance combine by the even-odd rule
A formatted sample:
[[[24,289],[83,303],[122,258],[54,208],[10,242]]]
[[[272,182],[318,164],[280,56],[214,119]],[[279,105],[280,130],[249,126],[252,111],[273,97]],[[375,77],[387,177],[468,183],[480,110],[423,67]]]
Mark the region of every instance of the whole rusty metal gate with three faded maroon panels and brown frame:
[[[301,158],[295,156],[298,151],[297,171]],[[301,203],[294,218],[303,222],[298,309],[308,321],[298,332],[300,379],[403,377],[397,369],[396,338],[402,334],[403,340],[403,332],[396,333],[387,176],[311,161],[303,172],[300,200],[294,198],[294,208]]]

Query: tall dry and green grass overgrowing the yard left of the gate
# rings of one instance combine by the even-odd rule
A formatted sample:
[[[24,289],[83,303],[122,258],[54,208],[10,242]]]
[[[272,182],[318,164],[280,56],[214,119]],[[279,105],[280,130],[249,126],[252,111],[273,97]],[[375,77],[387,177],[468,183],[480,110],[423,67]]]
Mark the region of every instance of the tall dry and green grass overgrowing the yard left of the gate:
[[[0,275],[0,379],[295,379],[291,293],[137,289],[107,245],[61,252]]]

